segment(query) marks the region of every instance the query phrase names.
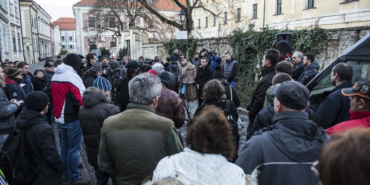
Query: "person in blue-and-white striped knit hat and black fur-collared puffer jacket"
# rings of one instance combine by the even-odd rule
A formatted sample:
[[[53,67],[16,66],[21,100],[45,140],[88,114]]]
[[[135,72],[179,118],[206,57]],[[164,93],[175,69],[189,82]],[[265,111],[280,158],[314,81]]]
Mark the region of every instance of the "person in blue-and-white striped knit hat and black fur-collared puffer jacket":
[[[115,184],[115,175],[103,172],[98,167],[98,153],[100,144],[100,131],[105,119],[120,113],[120,108],[110,104],[110,91],[112,85],[108,79],[99,76],[94,81],[94,87],[84,91],[83,106],[78,112],[81,129],[86,145],[87,159],[90,165],[94,166],[95,176],[98,184],[107,184],[109,177]]]

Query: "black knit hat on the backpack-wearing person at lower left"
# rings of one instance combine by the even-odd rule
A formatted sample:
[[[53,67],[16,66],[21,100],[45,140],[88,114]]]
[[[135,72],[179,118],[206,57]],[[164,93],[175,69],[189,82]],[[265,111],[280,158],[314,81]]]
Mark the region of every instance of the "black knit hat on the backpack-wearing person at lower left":
[[[43,111],[49,104],[49,98],[44,92],[35,91],[27,95],[26,100],[24,100],[24,105],[27,109],[36,112]]]

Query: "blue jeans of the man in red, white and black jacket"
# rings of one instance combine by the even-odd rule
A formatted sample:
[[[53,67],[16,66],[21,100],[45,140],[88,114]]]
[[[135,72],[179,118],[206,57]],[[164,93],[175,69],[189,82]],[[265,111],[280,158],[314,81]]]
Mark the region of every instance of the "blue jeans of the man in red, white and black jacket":
[[[63,178],[68,178],[68,182],[74,182],[80,179],[78,155],[81,152],[83,137],[80,121],[58,124],[62,140],[60,157],[64,162]]]

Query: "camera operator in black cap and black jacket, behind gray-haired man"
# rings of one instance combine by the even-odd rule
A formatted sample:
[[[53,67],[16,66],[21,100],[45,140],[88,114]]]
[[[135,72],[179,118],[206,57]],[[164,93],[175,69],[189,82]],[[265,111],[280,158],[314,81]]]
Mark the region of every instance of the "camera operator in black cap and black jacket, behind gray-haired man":
[[[121,102],[121,111],[127,110],[127,105],[130,103],[130,94],[128,91],[128,83],[139,73],[139,64],[137,61],[129,61],[126,65],[126,77],[120,82],[119,98]]]

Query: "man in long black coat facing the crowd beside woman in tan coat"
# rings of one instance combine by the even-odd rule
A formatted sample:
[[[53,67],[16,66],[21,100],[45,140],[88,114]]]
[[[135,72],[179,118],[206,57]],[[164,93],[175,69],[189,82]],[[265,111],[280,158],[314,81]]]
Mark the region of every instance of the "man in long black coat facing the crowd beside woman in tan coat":
[[[199,69],[199,71],[197,71],[195,75],[195,79],[194,79],[196,88],[198,88],[198,92],[196,92],[196,97],[198,98],[198,106],[201,106],[203,103],[202,89],[208,81],[212,80],[212,76],[213,76],[213,71],[211,70],[211,68],[208,67],[207,57],[202,58],[201,66],[202,67]]]

